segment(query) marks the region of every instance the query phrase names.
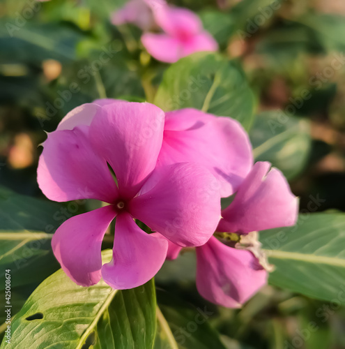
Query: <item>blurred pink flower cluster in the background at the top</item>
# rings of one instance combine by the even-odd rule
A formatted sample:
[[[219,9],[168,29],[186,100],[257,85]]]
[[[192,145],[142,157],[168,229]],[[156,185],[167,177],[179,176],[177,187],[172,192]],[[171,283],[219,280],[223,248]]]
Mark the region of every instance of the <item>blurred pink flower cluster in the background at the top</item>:
[[[218,49],[217,42],[203,29],[195,13],[169,6],[164,0],[130,0],[112,15],[112,23],[133,23],[146,31],[156,24],[163,33],[145,33],[141,42],[151,56],[167,63],[194,52]]]

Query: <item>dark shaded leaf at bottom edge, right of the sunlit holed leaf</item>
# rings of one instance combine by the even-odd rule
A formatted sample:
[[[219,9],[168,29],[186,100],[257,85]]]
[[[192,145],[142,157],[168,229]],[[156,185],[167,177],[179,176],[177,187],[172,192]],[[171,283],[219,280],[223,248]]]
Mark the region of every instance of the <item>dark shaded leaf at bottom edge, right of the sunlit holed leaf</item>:
[[[154,349],[225,349],[219,334],[208,325],[207,306],[195,309],[174,295],[157,290],[159,322]]]

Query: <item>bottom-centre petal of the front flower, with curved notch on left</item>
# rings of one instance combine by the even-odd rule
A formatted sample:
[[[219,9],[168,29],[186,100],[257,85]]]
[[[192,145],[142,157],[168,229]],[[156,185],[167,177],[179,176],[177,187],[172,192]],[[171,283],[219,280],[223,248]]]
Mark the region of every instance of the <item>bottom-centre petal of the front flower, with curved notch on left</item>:
[[[117,290],[143,285],[162,267],[167,248],[168,242],[160,234],[146,234],[129,214],[120,214],[116,218],[113,259],[103,265],[102,277]]]

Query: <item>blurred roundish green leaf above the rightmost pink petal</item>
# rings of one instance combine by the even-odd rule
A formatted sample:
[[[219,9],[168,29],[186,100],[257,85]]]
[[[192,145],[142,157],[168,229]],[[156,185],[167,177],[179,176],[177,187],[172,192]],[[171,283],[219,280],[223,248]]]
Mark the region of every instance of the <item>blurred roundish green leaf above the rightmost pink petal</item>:
[[[270,161],[287,179],[305,167],[311,148],[309,122],[283,112],[262,112],[250,130],[256,161]]]

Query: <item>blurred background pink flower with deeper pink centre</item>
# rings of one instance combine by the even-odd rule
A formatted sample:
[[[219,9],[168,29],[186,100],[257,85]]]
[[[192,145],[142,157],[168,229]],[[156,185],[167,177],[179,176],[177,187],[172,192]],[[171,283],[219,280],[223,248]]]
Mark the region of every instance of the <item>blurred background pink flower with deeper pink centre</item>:
[[[146,33],[141,42],[155,59],[174,63],[194,52],[217,51],[217,42],[191,10],[162,6],[154,16],[164,34]]]

